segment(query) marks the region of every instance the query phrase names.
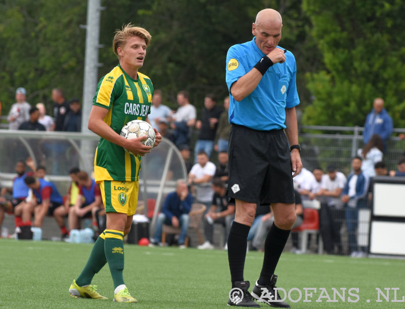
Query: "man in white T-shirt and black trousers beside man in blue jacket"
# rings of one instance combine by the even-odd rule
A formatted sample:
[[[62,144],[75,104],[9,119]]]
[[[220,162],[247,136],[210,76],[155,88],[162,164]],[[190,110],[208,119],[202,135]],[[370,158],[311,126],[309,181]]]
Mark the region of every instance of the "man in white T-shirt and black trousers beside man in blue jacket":
[[[346,185],[346,176],[338,172],[336,167],[327,167],[327,176],[322,178],[321,188],[315,194],[320,200],[319,231],[323,240],[323,248],[328,254],[343,254],[340,241],[340,228],[345,218],[345,210],[340,199]]]

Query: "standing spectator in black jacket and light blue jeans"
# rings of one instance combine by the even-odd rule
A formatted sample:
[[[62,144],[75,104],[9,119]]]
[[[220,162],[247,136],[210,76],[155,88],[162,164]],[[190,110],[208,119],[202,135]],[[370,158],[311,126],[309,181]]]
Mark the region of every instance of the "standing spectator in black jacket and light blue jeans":
[[[198,131],[198,139],[194,147],[194,164],[197,163],[197,153],[204,151],[208,158],[214,149],[215,133],[218,128],[218,120],[221,109],[216,107],[217,100],[214,94],[207,94],[204,98],[204,107],[201,109],[201,117],[195,123]]]

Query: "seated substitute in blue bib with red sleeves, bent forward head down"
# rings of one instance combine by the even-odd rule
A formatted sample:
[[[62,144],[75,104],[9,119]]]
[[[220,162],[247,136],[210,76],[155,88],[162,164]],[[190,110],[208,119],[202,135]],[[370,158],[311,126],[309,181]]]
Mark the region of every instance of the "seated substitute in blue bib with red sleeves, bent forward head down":
[[[24,181],[32,189],[36,201],[25,202],[16,207],[16,215],[22,215],[22,224],[31,225],[31,217],[34,214],[33,225],[35,227],[42,227],[44,217],[46,215],[53,215],[60,227],[62,236],[66,236],[67,229],[63,218],[66,212],[62,205],[62,197],[55,184],[41,178],[34,178],[33,176],[25,177]]]

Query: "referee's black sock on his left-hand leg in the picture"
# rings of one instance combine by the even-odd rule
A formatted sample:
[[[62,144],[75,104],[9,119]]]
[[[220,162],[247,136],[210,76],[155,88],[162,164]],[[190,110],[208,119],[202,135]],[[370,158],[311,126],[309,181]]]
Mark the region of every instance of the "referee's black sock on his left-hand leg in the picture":
[[[228,236],[228,261],[232,288],[235,281],[244,281],[246,249],[250,226],[233,221]]]

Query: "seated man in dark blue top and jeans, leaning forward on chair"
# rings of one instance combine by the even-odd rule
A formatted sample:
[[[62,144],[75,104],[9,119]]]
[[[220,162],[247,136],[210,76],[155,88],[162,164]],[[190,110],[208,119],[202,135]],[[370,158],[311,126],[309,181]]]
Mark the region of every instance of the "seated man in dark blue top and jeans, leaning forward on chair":
[[[166,197],[161,212],[157,216],[155,224],[155,235],[151,242],[152,246],[161,243],[163,224],[174,227],[181,227],[181,234],[178,240],[179,247],[185,248],[185,240],[190,218],[188,213],[193,203],[193,197],[188,192],[187,183],[184,180],[177,180],[176,191]]]

